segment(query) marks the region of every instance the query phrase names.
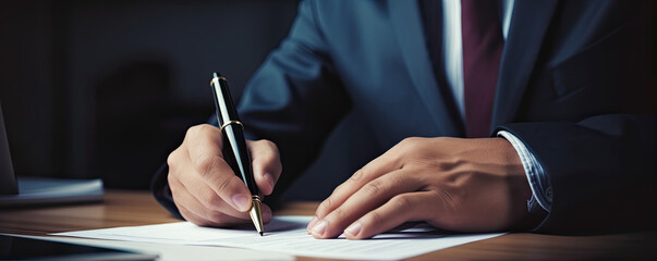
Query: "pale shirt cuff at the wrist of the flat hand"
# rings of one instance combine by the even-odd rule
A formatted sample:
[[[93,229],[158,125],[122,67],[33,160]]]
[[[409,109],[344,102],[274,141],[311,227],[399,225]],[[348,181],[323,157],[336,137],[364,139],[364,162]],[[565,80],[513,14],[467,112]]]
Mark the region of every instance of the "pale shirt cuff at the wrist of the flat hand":
[[[503,137],[518,152],[522,166],[527,175],[532,198],[527,201],[527,211],[531,211],[534,204],[538,203],[548,213],[552,209],[552,185],[548,175],[534,154],[527,150],[527,147],[513,134],[507,130],[499,130],[497,136]]]

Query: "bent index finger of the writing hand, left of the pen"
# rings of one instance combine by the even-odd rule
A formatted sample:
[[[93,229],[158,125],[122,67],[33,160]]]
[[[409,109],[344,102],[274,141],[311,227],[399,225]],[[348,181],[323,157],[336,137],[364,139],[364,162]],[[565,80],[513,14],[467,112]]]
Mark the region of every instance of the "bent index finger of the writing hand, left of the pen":
[[[195,173],[232,208],[248,211],[252,195],[222,158],[219,128],[207,124],[194,126],[185,140]]]

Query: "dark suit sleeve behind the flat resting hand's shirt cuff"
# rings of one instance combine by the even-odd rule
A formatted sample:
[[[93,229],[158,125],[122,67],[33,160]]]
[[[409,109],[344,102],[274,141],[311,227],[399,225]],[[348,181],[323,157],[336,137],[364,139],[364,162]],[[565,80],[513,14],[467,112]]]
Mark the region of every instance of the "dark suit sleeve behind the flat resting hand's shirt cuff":
[[[552,185],[539,233],[654,227],[657,217],[654,115],[599,115],[579,123],[500,126],[537,158]]]

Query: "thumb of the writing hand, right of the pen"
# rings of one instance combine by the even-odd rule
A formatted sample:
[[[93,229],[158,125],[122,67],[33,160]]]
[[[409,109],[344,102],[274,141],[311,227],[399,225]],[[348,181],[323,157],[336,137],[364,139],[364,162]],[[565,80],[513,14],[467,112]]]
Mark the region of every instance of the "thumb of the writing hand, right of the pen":
[[[282,170],[278,148],[265,139],[247,141],[247,145],[256,184],[260,192],[271,195]]]

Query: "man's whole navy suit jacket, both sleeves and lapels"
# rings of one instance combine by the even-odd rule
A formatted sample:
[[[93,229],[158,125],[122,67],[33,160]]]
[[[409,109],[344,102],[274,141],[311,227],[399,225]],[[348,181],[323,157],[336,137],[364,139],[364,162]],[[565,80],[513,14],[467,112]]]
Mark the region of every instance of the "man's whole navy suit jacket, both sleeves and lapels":
[[[515,1],[490,135],[511,132],[548,173],[553,203],[540,232],[654,223],[654,1]],[[300,4],[239,107],[251,137],[279,146],[280,186],[308,166],[346,113],[375,129],[376,153],[412,136],[464,136],[434,70],[441,33],[425,28],[433,27],[415,1]],[[175,212],[166,172],[154,189]]]

